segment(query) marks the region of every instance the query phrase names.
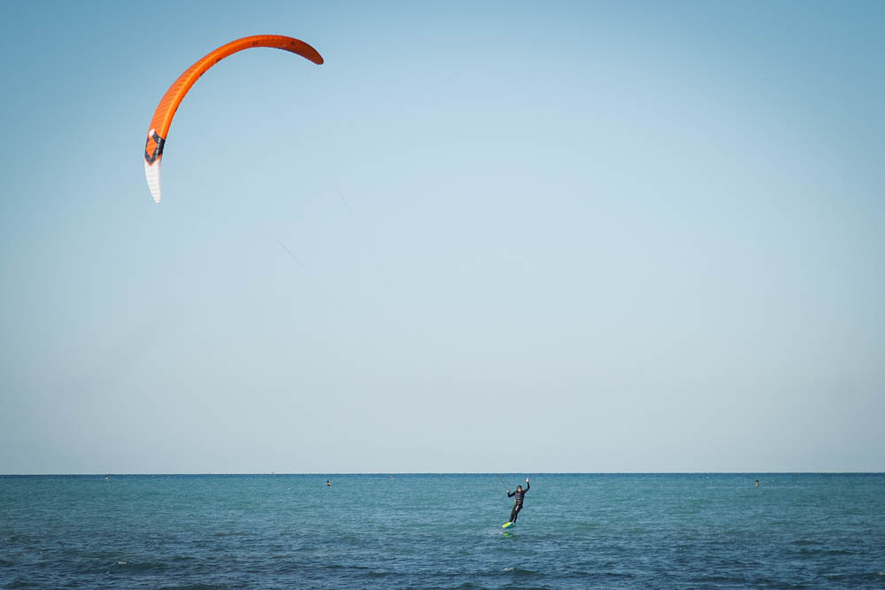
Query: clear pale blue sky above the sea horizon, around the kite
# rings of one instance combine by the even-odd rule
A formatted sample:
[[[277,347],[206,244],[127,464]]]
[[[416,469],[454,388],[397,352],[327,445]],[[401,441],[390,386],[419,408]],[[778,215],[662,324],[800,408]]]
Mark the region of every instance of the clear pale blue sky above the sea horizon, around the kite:
[[[883,30],[0,4],[0,472],[885,470]]]

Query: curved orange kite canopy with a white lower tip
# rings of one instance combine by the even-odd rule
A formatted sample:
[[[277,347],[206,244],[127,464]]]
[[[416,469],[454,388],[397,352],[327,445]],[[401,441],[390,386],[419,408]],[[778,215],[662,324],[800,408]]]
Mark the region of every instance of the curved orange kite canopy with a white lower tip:
[[[154,111],[153,119],[150,119],[148,140],[144,144],[144,177],[148,180],[150,195],[154,197],[156,203],[160,202],[160,162],[163,158],[163,146],[169,134],[169,127],[172,126],[175,111],[178,110],[181,100],[188,94],[196,80],[199,80],[200,76],[211,68],[212,65],[219,63],[219,61],[237,51],[248,50],[253,47],[273,47],[278,50],[291,51],[301,57],[310,59],[314,64],[319,65],[323,63],[323,57],[319,55],[319,52],[303,41],[281,34],[255,34],[229,42],[227,45],[222,45],[185,70],[178,77],[178,80],[175,80],[173,85],[166,90],[165,95],[160,100],[157,111]]]

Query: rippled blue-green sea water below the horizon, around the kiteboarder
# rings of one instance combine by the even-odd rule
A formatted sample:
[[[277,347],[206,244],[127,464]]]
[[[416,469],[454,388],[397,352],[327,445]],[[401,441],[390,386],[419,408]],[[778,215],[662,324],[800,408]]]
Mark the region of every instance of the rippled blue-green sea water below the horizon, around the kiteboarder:
[[[885,587],[883,474],[538,474],[511,506],[495,474],[5,476],[0,586]]]

